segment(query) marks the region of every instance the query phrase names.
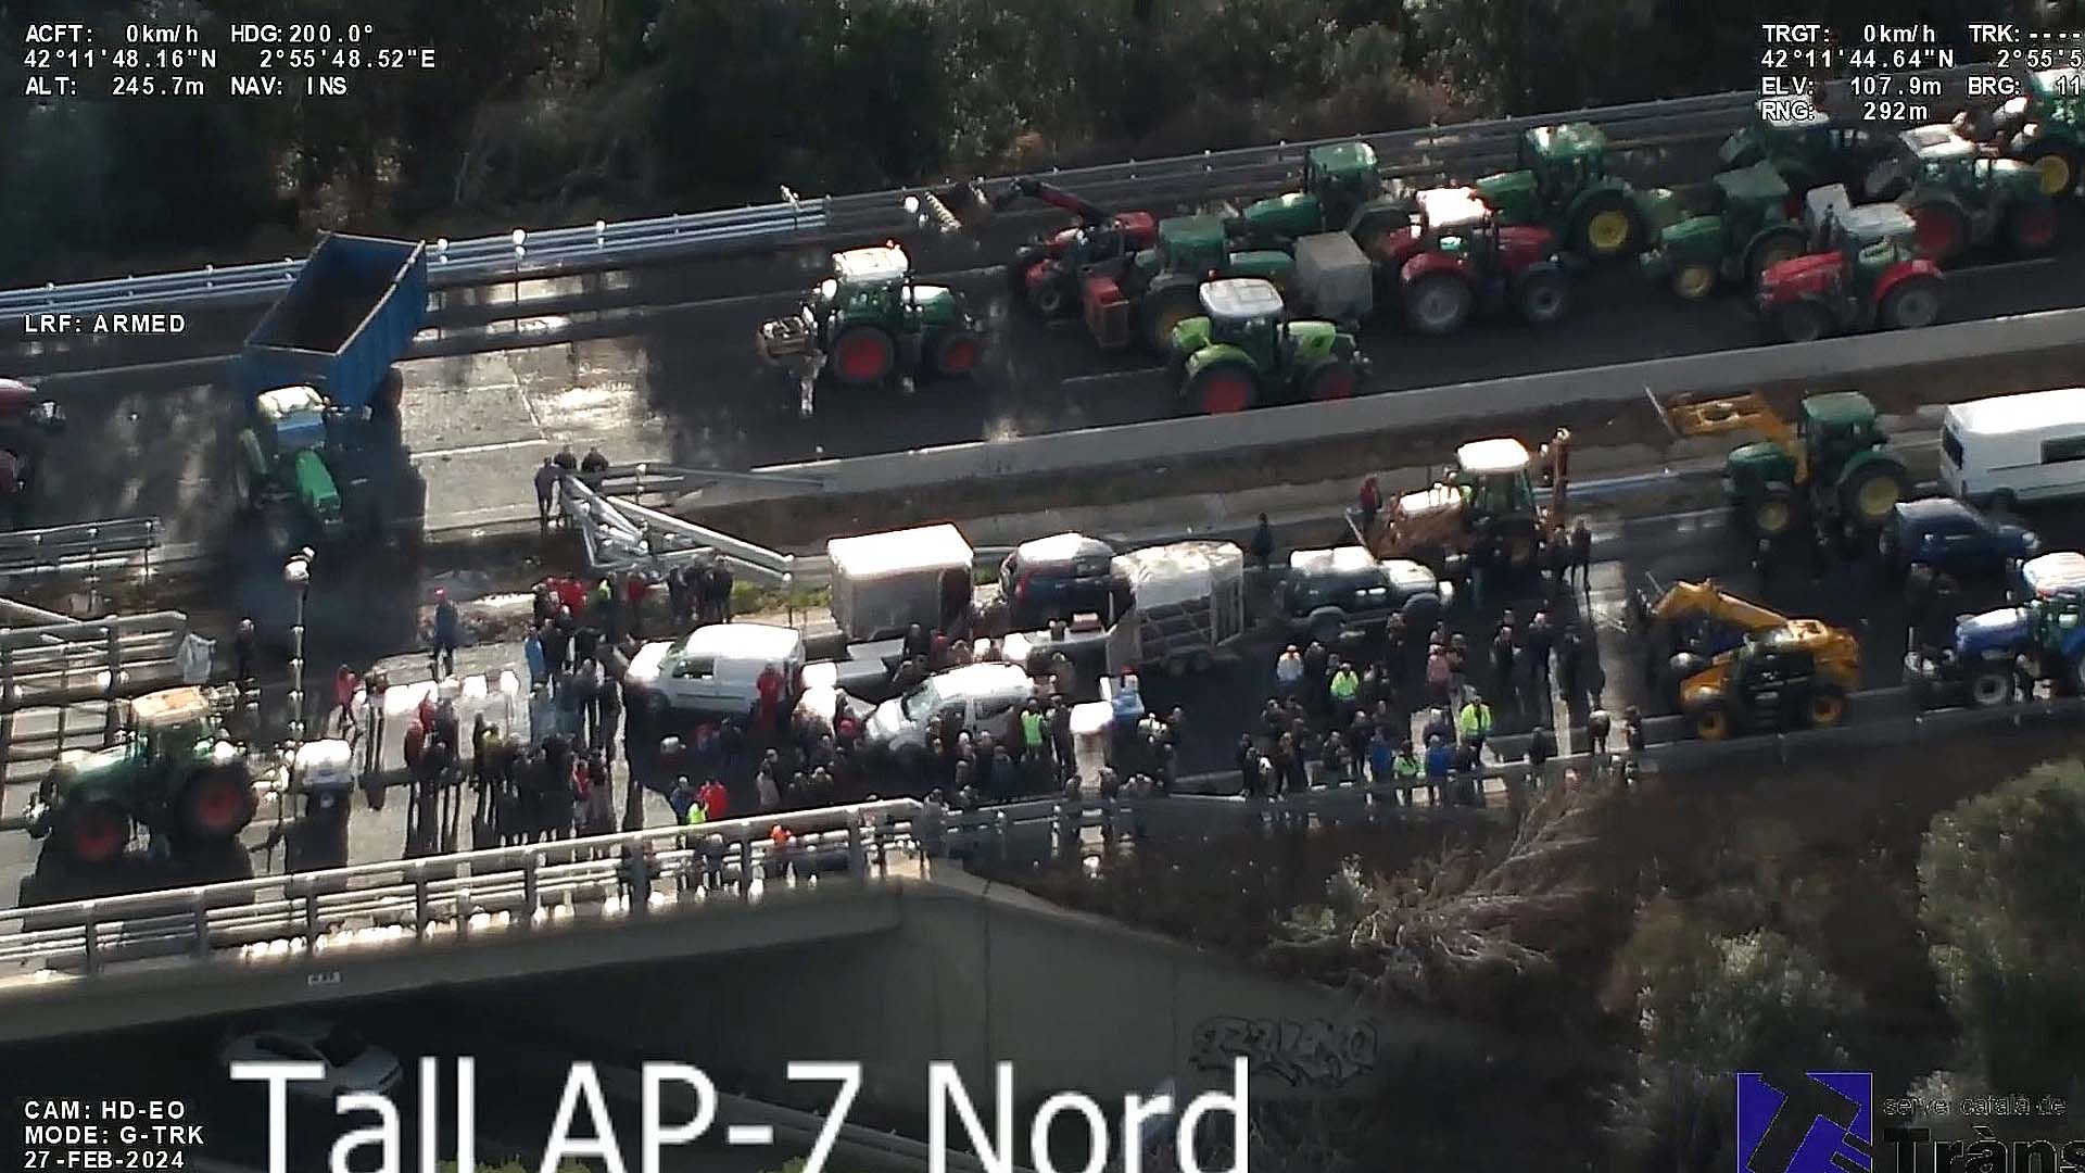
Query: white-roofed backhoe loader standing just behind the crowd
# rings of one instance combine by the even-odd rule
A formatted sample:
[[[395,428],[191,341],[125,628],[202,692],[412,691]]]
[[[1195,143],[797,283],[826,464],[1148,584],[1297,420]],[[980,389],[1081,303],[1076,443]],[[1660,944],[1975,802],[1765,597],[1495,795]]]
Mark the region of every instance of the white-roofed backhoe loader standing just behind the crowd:
[[[1512,436],[1470,440],[1439,480],[1384,501],[1374,520],[1349,507],[1347,528],[1376,557],[1424,561],[1443,576],[1472,564],[1520,574],[1541,566],[1568,509],[1570,430],[1557,428],[1532,455]]]

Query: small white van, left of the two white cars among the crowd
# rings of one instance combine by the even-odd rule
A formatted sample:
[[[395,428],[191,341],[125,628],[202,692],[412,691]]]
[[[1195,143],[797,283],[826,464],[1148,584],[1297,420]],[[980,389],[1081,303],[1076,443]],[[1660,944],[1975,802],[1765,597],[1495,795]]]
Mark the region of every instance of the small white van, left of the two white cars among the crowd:
[[[626,680],[642,691],[653,714],[749,716],[759,705],[759,678],[769,666],[782,672],[784,710],[794,703],[803,662],[803,632],[796,628],[709,624],[686,639],[640,647]]]

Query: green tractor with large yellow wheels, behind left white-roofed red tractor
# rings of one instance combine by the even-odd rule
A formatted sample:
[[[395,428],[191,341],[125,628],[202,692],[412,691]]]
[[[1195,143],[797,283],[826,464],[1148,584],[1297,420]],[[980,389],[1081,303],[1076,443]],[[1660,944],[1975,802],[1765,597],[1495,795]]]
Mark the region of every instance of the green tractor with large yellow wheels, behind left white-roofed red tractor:
[[[1587,261],[1633,257],[1653,230],[1678,219],[1672,192],[1639,192],[1608,173],[1608,136],[1593,123],[1528,127],[1516,169],[1474,186],[1499,223],[1549,228]]]

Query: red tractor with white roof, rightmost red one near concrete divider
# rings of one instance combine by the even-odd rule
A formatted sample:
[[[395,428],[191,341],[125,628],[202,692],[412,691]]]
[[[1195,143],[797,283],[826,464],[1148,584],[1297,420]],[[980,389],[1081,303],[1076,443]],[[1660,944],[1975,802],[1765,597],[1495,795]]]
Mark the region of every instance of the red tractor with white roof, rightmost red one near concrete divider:
[[[1854,207],[1845,188],[1804,196],[1814,253],[1768,265],[1753,309],[1789,342],[1858,330],[1933,326],[1947,301],[1939,265],[1918,250],[1918,221],[1897,205]]]

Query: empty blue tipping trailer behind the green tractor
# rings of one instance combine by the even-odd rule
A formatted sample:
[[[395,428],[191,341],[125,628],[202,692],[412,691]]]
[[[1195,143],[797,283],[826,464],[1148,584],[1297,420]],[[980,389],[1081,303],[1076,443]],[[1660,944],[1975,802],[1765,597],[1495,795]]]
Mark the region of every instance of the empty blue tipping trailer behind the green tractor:
[[[427,246],[332,232],[246,336],[240,388],[252,401],[315,386],[340,409],[398,405],[392,363],[427,319]]]

